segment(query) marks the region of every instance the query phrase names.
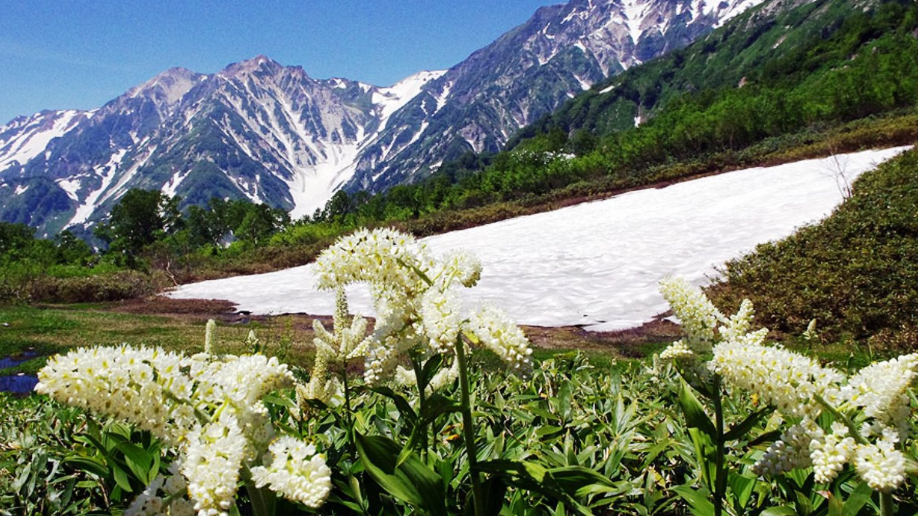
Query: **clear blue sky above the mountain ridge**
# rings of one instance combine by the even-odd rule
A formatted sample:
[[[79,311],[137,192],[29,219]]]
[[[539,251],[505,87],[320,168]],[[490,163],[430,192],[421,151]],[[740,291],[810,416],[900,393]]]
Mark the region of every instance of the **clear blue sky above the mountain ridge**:
[[[6,0],[0,125],[89,109],[173,66],[265,54],[312,77],[389,85],[448,68],[565,0]]]

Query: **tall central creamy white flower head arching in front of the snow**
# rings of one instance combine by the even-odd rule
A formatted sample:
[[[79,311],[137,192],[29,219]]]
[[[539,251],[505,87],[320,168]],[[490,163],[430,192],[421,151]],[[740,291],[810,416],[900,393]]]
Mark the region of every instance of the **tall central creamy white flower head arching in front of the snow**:
[[[457,287],[475,286],[481,276],[481,263],[471,252],[451,252],[438,260],[410,235],[358,230],[322,252],[316,264],[319,288],[370,285],[377,317],[361,349],[368,385],[390,376],[400,353],[416,346],[427,353],[453,353],[464,333],[498,351],[516,370],[529,365],[529,342],[505,314],[484,308],[465,319]]]

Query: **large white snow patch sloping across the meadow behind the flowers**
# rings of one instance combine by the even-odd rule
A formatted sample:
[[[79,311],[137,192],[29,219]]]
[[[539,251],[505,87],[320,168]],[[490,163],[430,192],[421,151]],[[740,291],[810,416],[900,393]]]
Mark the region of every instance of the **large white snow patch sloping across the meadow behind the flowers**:
[[[466,290],[466,304],[490,300],[521,324],[632,328],[668,309],[660,279],[681,275],[705,284],[714,267],[828,215],[842,200],[839,169],[851,181],[907,149],[713,175],[423,241],[435,253],[462,247],[481,259],[481,281]],[[255,314],[333,313],[334,294],[315,282],[308,264],[169,295],[229,299]],[[348,292],[354,312],[373,315],[364,286]]]

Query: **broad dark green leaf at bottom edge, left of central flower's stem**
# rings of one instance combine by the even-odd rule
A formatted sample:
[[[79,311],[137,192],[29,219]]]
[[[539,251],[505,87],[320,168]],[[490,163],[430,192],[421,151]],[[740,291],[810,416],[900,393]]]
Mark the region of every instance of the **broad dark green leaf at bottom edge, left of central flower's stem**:
[[[356,433],[357,450],[366,472],[392,496],[431,516],[446,516],[442,478],[420,462],[416,454],[398,465],[401,447],[383,436]]]

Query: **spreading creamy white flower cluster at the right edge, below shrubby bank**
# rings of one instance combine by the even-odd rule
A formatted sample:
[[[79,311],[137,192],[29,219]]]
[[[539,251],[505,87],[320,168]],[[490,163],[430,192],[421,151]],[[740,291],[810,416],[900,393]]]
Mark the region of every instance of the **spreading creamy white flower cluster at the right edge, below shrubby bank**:
[[[713,343],[713,358],[705,365],[711,373],[797,421],[753,466],[756,474],[812,466],[816,481],[828,483],[853,464],[871,488],[890,491],[904,482],[905,456],[895,445],[909,431],[908,388],[918,376],[918,353],[868,365],[847,378],[800,353],[767,346],[767,330],[751,331],[755,311],[748,299],[727,319],[685,281],[668,279],[661,291],[689,340],[674,342],[661,358],[691,358],[699,344]],[[817,338],[815,320],[806,338]],[[842,420],[834,421],[831,432],[816,423],[825,410]]]

